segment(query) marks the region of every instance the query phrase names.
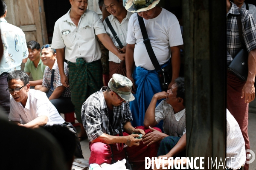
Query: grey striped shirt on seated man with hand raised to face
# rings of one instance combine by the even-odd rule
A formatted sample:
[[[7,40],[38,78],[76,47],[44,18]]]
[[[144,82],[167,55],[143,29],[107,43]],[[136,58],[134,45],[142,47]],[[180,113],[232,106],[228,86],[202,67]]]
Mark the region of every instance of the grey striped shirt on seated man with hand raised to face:
[[[157,123],[163,120],[163,131],[169,136],[181,137],[186,133],[186,109],[174,113],[172,106],[163,100],[156,107],[155,119]]]

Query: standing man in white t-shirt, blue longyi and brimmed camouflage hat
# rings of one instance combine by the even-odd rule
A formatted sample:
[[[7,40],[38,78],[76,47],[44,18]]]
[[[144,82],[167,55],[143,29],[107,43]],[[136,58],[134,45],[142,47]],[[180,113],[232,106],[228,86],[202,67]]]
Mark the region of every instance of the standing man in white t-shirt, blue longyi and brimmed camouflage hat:
[[[152,1],[152,0],[151,0]],[[145,111],[154,94],[163,91],[159,76],[148,56],[140,30],[137,14],[143,17],[148,38],[160,66],[172,62],[172,82],[175,83],[180,72],[180,47],[183,44],[180,24],[174,14],[156,6],[159,0],[128,0],[126,10],[135,12],[130,17],[126,46],[127,77],[133,82],[135,100],[130,102],[133,125],[143,125]],[[136,68],[134,68],[134,63]],[[157,102],[157,105],[160,101]]]

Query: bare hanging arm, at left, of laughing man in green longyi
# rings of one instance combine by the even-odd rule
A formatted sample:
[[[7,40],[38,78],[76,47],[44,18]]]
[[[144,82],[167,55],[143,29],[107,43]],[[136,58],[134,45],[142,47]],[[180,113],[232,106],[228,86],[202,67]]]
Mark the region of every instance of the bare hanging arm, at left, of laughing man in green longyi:
[[[66,74],[64,73],[64,59],[65,59],[64,48],[56,49],[56,54],[57,54],[58,68],[59,68],[60,75],[61,75],[61,83],[65,87],[69,87],[68,78],[67,78]]]

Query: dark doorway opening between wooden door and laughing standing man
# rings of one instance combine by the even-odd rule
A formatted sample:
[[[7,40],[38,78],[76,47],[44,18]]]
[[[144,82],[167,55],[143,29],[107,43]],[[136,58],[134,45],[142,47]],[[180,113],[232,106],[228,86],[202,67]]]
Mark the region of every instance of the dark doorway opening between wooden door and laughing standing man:
[[[52,34],[55,22],[71,8],[69,0],[44,0],[44,11],[49,44],[52,43]]]

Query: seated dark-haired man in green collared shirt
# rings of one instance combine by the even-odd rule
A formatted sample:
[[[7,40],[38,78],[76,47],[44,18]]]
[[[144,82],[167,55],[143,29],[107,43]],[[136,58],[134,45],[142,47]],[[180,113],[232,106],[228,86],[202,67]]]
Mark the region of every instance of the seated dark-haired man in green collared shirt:
[[[29,59],[24,68],[26,74],[32,74],[33,81],[29,81],[31,86],[42,85],[45,65],[40,58],[40,44],[36,41],[29,41],[27,43],[29,50]]]

